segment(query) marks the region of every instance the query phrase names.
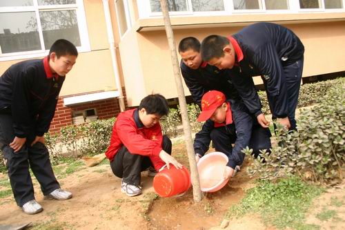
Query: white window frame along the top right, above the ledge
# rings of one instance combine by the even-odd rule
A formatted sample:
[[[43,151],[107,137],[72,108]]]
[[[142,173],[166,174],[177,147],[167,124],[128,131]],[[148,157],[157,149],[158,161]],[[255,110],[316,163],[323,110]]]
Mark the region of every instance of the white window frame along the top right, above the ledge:
[[[184,16],[210,16],[210,13],[213,16],[217,15],[239,15],[239,14],[276,14],[276,13],[286,13],[286,14],[293,14],[298,12],[345,12],[345,0],[342,1],[342,7],[339,9],[325,9],[324,0],[321,1],[321,8],[317,9],[302,9],[299,6],[299,1],[296,0],[288,0],[288,9],[281,9],[281,10],[267,10],[266,9],[266,2],[265,0],[259,0],[259,6],[261,9],[254,9],[254,10],[235,10],[234,4],[232,0],[223,0],[224,3],[224,10],[221,11],[203,11],[197,12],[193,11],[192,1],[186,0],[187,3],[187,11],[179,11],[179,12],[170,12],[170,16],[172,17],[184,17]],[[150,0],[141,0],[137,1],[138,11],[139,11],[139,19],[150,19],[155,17],[161,17],[161,12],[151,12],[150,9]]]

